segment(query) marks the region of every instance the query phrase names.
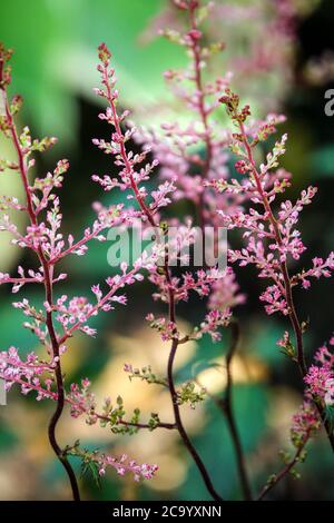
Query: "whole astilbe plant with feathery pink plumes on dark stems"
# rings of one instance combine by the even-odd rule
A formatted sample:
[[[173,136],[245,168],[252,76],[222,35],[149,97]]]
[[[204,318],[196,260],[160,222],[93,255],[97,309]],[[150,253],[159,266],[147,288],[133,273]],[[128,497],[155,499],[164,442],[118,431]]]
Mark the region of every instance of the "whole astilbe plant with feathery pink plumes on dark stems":
[[[77,239],[72,235],[65,237],[61,233],[60,198],[56,193],[62,186],[69,164],[61,160],[43,178],[35,176],[33,155],[55,145],[56,139],[45,138],[39,141],[31,138],[27,127],[21,132],[18,130],[14,117],[20,109],[21,99],[10,99],[8,93],[11,82],[8,65],[11,51],[3,47],[0,49],[0,90],[4,108],[0,128],[11,140],[17,156],[13,161],[1,159],[0,168],[18,172],[24,189],[24,201],[6,196],[1,198],[1,230],[9,231],[11,241],[29,249],[36,258],[35,267],[18,267],[18,275],[13,276],[1,273],[0,282],[11,284],[13,293],[22,292],[22,287],[28,284],[39,285],[45,289],[41,308],[30,304],[27,298],[13,304],[27,317],[24,327],[45,347],[43,358],[30,353],[22,361],[20,351],[10,347],[1,353],[0,377],[4,379],[7,389],[17,384],[22,394],[36,392],[38,401],[51,399],[56,403],[48,427],[49,440],[67,471],[75,500],[79,500],[80,494],[69,456],[78,457],[82,462],[82,470],[90,471],[97,480],[105,475],[107,467],[115,468],[120,475],[131,473],[136,481],[151,478],[158,466],[138,464],[126,455],[116,457],[98,451],[90,452],[82,448],[79,441],[60,446],[56,430],[66,404],[70,406],[72,417],[86,416],[88,424],[108,426],[114,434],[131,435],[141,430],[177,431],[197,465],[207,491],[214,500],[223,500],[189,438],[180,411],[183,404],[194,408],[203,402],[206,391],[198,387],[196,379],[177,386],[174,373],[175,357],[180,345],[190,339],[199,339],[206,334],[217,342],[222,338],[222,327],[229,326],[232,336],[226,356],[227,386],[225,396],[217,399],[217,405],[230,432],[244,499],[263,499],[287,473],[295,472],[295,465],[305,458],[308,440],[321,424],[334,447],[334,356],[324,346],[316,353],[315,364],[308,368],[303,341],[307,324],[299,319],[294,300],[295,287],[307,289],[312,278],[331,276],[334,254],[330,254],[326,259],[314,258],[310,269],[296,274],[291,272],[291,262],[298,260],[305,250],[296,229],[299,213],[311,203],[316,189],[311,187],[303,191],[296,203],[281,203],[276,210],[276,198],[291,185],[291,176],[278,166],[279,158],[285,152],[286,135],[275,144],[264,162],[257,161],[256,150],[261,148],[261,142],[275,132],[276,125],[284,121],[284,118],[269,115],[265,120],[255,121],[250,119],[249,107],[240,105],[239,97],[230,90],[228,75],[215,82],[206,80],[206,62],[214,53],[224,49],[220,42],[204,43],[199,24],[208,16],[209,8],[199,6],[197,0],[175,0],[174,3],[185,16],[188,27],[185,32],[166,31],[166,36],[186,49],[190,65],[185,71],[169,70],[165,77],[171,83],[175,95],[189,108],[191,120],[185,127],[165,122],[158,130],[137,130],[132,127],[128,120],[129,112],[120,112],[118,109],[115,70],[110,67],[111,53],[106,45],[99,46],[98,72],[101,86],[95,91],[106,105],[106,110],[99,118],[110,125],[111,132],[109,140],[94,138],[92,142],[110,156],[118,176],[112,178],[108,175],[95,175],[92,179],[105,191],[126,191],[130,205],[105,207],[95,204],[97,217]],[[222,129],[222,103],[235,126],[234,132],[228,127]],[[141,152],[135,155],[131,151],[132,139],[141,145]],[[237,157],[237,177],[229,174],[228,148]],[[148,159],[151,154],[154,160]],[[158,166],[159,172],[155,174]],[[155,188],[149,188],[147,181],[155,181],[156,178],[158,182]],[[181,219],[170,218],[173,204],[179,199],[186,199],[193,205],[194,220],[189,220],[188,216]],[[165,211],[166,207],[170,207],[168,214]],[[7,209],[27,215],[29,223],[23,230],[19,230]],[[185,270],[181,267],[181,272],[176,273],[173,268],[176,263],[185,266],[189,262],[184,249],[187,250],[196,241],[196,220],[203,230],[212,230],[212,240],[218,251],[225,248],[216,234],[219,227],[239,228],[244,231],[243,246],[239,249],[229,249],[228,260],[230,265],[255,265],[258,277],[269,282],[261,295],[266,313],[285,316],[294,333],[292,339],[286,330],[277,344],[298,366],[305,384],[305,397],[291,428],[295,453],[292,456],[284,454],[283,468],[268,478],[257,496],[250,489],[233,408],[230,364],[238,345],[239,326],[232,317],[232,309],[243,304],[245,296],[239,292],[230,265],[224,270],[204,266],[199,270]],[[94,285],[91,302],[86,297],[57,294],[57,284],[69,279],[59,269],[65,257],[85,255],[91,240],[106,240],[109,228],[137,227],[138,224],[144,230],[154,228],[163,236],[164,241],[158,241],[149,253],[143,251],[131,266],[122,262],[116,276]],[[171,226],[177,226],[176,237],[168,235]],[[117,396],[115,391],[111,391],[116,396],[115,402],[107,398],[99,407],[90,391],[89,379],[84,378],[80,384],[67,383],[62,369],[62,354],[67,351],[69,338],[79,332],[95,336],[97,332],[91,327],[90,319],[100,313],[112,312],[117,304],[126,305],[124,289],[144,277],[155,286],[154,300],[161,300],[167,308],[165,316],[157,316],[153,312],[146,318],[150,327],[168,344],[166,375],[158,376],[150,366],[134,368],[130,363],[125,365],[124,371],[131,381],[156,384],[169,392],[173,421],[161,421],[158,413],[153,413],[148,421],[143,421],[139,408],[128,415],[121,396]],[[188,302],[191,294],[205,298],[207,309],[197,327],[190,332],[181,332],[176,315],[177,306],[181,302]]]

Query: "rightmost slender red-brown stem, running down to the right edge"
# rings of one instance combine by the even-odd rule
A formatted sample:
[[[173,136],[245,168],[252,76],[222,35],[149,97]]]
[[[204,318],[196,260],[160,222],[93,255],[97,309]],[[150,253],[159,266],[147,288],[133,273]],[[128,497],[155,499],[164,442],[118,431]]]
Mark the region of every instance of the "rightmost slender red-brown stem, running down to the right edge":
[[[235,116],[237,118],[237,115],[235,115]],[[273,231],[275,234],[275,239],[277,241],[277,245],[282,246],[283,240],[282,240],[282,235],[281,235],[278,221],[276,220],[276,218],[273,214],[269,200],[268,200],[268,198],[267,198],[267,196],[266,196],[266,194],[263,189],[263,186],[262,186],[262,182],[261,182],[261,175],[259,175],[259,172],[257,171],[257,168],[256,168],[256,164],[255,164],[255,160],[254,160],[252,147],[248,142],[247,134],[245,131],[244,124],[238,120],[238,126],[239,126],[240,134],[242,134],[242,137],[243,137],[243,142],[244,142],[244,146],[245,146],[246,155],[247,155],[249,165],[252,167],[252,174],[253,174],[253,177],[254,177],[256,188],[257,188],[258,194],[261,196],[261,199],[262,199],[263,206],[265,208],[265,211],[267,214],[268,220],[269,220],[269,223],[273,227]],[[284,279],[285,298],[286,298],[286,303],[287,303],[287,306],[288,306],[288,318],[289,318],[292,327],[294,329],[294,335],[295,335],[295,339],[296,339],[297,365],[298,365],[298,369],[299,369],[299,373],[301,373],[302,377],[304,377],[307,374],[307,365],[306,365],[306,362],[305,362],[305,354],[304,354],[304,346],[303,346],[303,329],[302,329],[302,325],[301,325],[301,322],[299,322],[299,318],[298,318],[298,315],[297,315],[297,312],[296,312],[295,303],[294,303],[293,289],[292,289],[292,284],[291,284],[291,276],[289,276],[289,273],[288,273],[287,264],[286,264],[286,262],[282,262],[282,260],[279,262],[279,264],[281,264],[281,270],[282,270],[282,275],[283,275],[283,279]],[[323,425],[325,427],[325,431],[326,431],[328,440],[330,440],[330,444],[331,444],[332,450],[334,452],[334,433],[333,433],[333,430],[331,427],[331,424],[328,423],[328,421],[326,418],[324,406],[316,398],[314,398],[314,403],[315,403],[316,408],[320,413],[320,416],[322,418]]]

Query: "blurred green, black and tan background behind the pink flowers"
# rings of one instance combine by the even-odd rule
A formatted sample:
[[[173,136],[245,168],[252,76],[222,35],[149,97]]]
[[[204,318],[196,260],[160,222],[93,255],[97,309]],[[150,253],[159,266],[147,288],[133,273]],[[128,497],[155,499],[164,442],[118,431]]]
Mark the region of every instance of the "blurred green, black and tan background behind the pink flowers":
[[[92,217],[91,200],[104,198],[90,182],[90,176],[110,171],[108,161],[91,146],[91,137],[102,137],[108,131],[97,118],[98,101],[91,93],[98,81],[96,48],[106,41],[112,49],[122,103],[134,110],[139,124],[150,125],[167,108],[173,112],[173,100],[161,73],[183,66],[186,58],[178,47],[155,37],[156,30],[169,20],[168,14],[160,16],[168,3],[167,0],[1,2],[0,40],[16,50],[13,85],[26,100],[21,121],[35,135],[59,137],[57,147],[39,160],[38,171],[51,169],[59,158],[70,159],[62,194],[68,230],[80,231]],[[216,4],[220,14],[206,31],[208,38],[219,34],[227,43],[216,67],[220,73],[235,70],[236,89],[242,90],[258,116],[277,109],[287,115],[282,130],[289,134],[284,167],[294,174],[292,196],[310,184],[320,187],[315,203],[302,216],[304,239],[310,246],[304,257],[307,267],[315,254],[325,256],[334,245],[334,117],[324,114],[325,90],[334,87],[333,1],[216,0]],[[279,29],[279,17],[289,21],[288,27]],[[273,27],[277,29],[275,22],[281,40],[273,31]],[[187,118],[185,108],[177,107],[177,114],[180,119]],[[0,142],[1,157],[11,154],[7,147]],[[0,189],[6,194],[19,193],[18,179],[1,175]],[[63,285],[59,292],[85,295],[90,285],[109,275],[107,248],[105,244],[94,244],[79,263],[78,258],[68,259],[63,268],[71,274],[71,285],[70,288]],[[21,250],[8,246],[4,236],[0,238],[0,249],[1,272],[29,262]],[[296,369],[276,346],[285,329],[284,320],[265,316],[257,298],[261,288],[252,272],[243,270],[238,279],[247,304],[236,310],[243,337],[233,366],[235,409],[249,473],[258,487],[281,466],[278,451],[288,448],[291,416],[301,403],[302,388]],[[35,302],[42,299],[36,289],[28,290]],[[332,334],[333,290],[333,283],[326,280],[297,295],[302,316],[311,322],[306,336],[310,354]],[[129,413],[140,406],[144,417],[158,411],[167,421],[171,420],[167,393],[156,386],[130,383],[122,373],[126,362],[135,366],[149,363],[164,373],[167,346],[143,320],[151,310],[149,292],[148,285],[134,286],[126,308],[100,316],[96,339],[85,336],[72,339],[65,367],[68,383],[88,376],[99,399],[120,394]],[[10,290],[1,288],[0,348],[14,345],[22,354],[39,351],[30,333],[21,328],[22,317],[10,306],[11,302]],[[202,314],[203,305],[194,304],[190,313],[180,310],[179,319],[185,325],[191,324]],[[216,345],[203,339],[183,346],[177,358],[177,379],[190,378],[196,373],[200,383],[219,397],[226,381],[224,368],[212,364],[224,364],[226,344],[227,337]],[[7,407],[0,407],[0,499],[68,496],[63,472],[47,441],[46,424],[53,405],[38,404],[32,395],[22,397],[17,391],[10,393],[8,402]],[[225,497],[238,499],[230,440],[214,402],[208,399],[195,411],[184,408],[183,415],[217,490]],[[118,437],[108,430],[89,427],[84,420],[72,421],[65,415],[59,437],[63,443],[79,437],[88,447],[116,455],[126,452],[138,461],[160,466],[157,478],[141,485],[134,484],[131,477],[120,478],[112,471],[101,490],[91,478],[82,477],[86,499],[207,499],[177,434],[156,431]],[[272,499],[333,500],[333,456],[325,437],[321,435],[312,442],[310,451],[306,463],[299,467],[302,480],[287,477],[273,491]]]

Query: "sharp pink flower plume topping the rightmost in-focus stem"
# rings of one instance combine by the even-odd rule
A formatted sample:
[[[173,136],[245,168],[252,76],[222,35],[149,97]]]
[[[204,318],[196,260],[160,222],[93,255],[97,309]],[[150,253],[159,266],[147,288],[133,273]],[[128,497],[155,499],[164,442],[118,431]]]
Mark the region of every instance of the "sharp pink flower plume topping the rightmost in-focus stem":
[[[254,159],[254,149],[275,131],[279,119],[271,117],[269,126],[267,122],[248,124],[250,116],[248,106],[240,107],[239,97],[229,89],[226,89],[220,101],[237,127],[237,132],[230,137],[229,148],[240,158],[236,162],[236,169],[243,179],[242,181],[234,179],[232,182],[216,180],[208,185],[223,194],[226,191],[235,195],[248,194],[250,200],[247,211],[236,209],[226,214],[224,210],[218,210],[224,225],[228,229],[242,229],[246,241],[242,249],[229,249],[228,257],[230,263],[238,263],[242,267],[256,266],[258,277],[271,280],[271,285],[261,295],[267,314],[281,312],[289,315],[291,288],[298,284],[303,288],[308,288],[311,277],[328,277],[334,269],[334,253],[331,253],[326,260],[314,258],[312,268],[293,276],[287,269],[287,262],[299,260],[306,249],[296,226],[301,211],[312,203],[316,189],[308,187],[303,190],[295,203],[291,200],[281,203],[279,210],[275,214],[272,208],[273,203],[289,185],[289,176],[277,169],[279,158],[285,152],[287,136],[284,135],[279,141],[276,141],[273,151],[266,155],[265,162],[259,167]],[[252,204],[257,207],[253,207]]]

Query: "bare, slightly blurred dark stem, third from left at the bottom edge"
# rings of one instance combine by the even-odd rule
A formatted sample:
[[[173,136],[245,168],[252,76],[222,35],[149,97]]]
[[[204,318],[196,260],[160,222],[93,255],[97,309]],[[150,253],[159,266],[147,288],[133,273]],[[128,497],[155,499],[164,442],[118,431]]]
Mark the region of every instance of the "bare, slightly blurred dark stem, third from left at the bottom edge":
[[[239,325],[237,322],[232,322],[230,328],[232,328],[232,342],[230,342],[229,351],[226,356],[227,384],[226,384],[225,397],[220,401],[217,401],[216,403],[222,408],[222,411],[224,412],[226,416],[226,421],[227,421],[228,428],[229,428],[230,436],[232,436],[232,442],[233,442],[234,450],[235,450],[238,475],[240,480],[244,499],[247,501],[252,501],[250,483],[249,483],[249,478],[248,478],[247,471],[246,471],[244,452],[243,452],[242,442],[240,442],[240,437],[238,434],[234,409],[233,409],[233,377],[232,377],[232,372],[230,372],[230,364],[232,364],[233,356],[238,346],[240,329],[239,329]]]

